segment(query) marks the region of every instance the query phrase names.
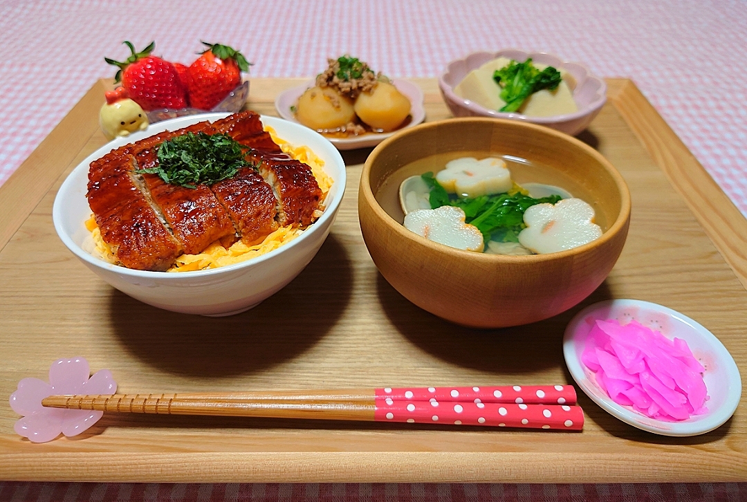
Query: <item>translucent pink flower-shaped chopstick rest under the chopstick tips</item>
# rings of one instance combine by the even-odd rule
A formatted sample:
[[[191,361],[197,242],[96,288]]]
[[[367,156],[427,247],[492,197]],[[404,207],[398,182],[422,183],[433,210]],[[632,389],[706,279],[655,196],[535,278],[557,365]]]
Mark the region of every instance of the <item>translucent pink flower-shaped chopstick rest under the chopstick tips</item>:
[[[82,357],[58,359],[49,368],[49,383],[38,378],[25,378],[10,394],[10,407],[23,415],[13,430],[32,443],[45,443],[63,433],[77,436],[102,418],[104,412],[86,409],[45,408],[42,400],[56,394],[114,394],[117,382],[111,371],[97,371],[90,377],[88,362]]]

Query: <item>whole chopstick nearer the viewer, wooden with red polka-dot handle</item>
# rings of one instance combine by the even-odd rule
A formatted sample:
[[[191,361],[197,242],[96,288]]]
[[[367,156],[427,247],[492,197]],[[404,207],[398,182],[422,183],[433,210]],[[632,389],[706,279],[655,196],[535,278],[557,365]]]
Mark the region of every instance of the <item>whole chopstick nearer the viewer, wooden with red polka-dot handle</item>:
[[[391,392],[389,394],[393,394]],[[412,397],[415,397],[413,395]],[[350,399],[352,398],[352,399]],[[413,400],[355,391],[55,395],[43,406],[158,415],[382,421],[581,430],[579,406]]]

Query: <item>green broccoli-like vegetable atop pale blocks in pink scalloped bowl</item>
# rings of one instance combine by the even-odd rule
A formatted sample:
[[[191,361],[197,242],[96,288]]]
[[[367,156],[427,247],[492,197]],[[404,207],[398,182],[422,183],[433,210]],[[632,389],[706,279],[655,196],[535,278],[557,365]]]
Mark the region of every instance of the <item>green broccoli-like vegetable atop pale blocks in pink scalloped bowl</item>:
[[[538,90],[556,90],[560,85],[560,72],[552,66],[539,71],[532,58],[524,63],[511,60],[507,66],[495,70],[493,79],[501,87],[500,99],[506,102],[500,111],[517,111],[524,101]]]

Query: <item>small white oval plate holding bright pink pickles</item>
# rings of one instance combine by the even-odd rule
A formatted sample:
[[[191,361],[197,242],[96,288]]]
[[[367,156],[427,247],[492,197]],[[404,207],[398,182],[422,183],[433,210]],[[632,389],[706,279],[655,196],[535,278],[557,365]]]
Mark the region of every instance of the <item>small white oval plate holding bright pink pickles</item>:
[[[703,380],[708,389],[707,413],[692,415],[685,421],[665,422],[648,418],[630,406],[621,406],[607,396],[596,383],[593,371],[581,362],[586,337],[595,320],[617,319],[625,324],[637,320],[643,326],[656,329],[666,338],[681,338],[692,355],[705,368]],[[737,364],[726,347],[713,333],[685,315],[642,300],[607,300],[586,307],[568,323],[563,338],[563,356],[568,371],[586,395],[616,418],[663,436],[697,436],[721,426],[727,421],[742,396],[742,379]]]

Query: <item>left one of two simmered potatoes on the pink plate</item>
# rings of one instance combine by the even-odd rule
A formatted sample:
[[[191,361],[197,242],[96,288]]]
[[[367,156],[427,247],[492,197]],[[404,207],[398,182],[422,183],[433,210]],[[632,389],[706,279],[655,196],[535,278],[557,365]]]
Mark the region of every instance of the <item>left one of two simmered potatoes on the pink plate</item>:
[[[353,102],[331,87],[311,87],[298,100],[296,117],[312,129],[336,129],[354,120]]]

